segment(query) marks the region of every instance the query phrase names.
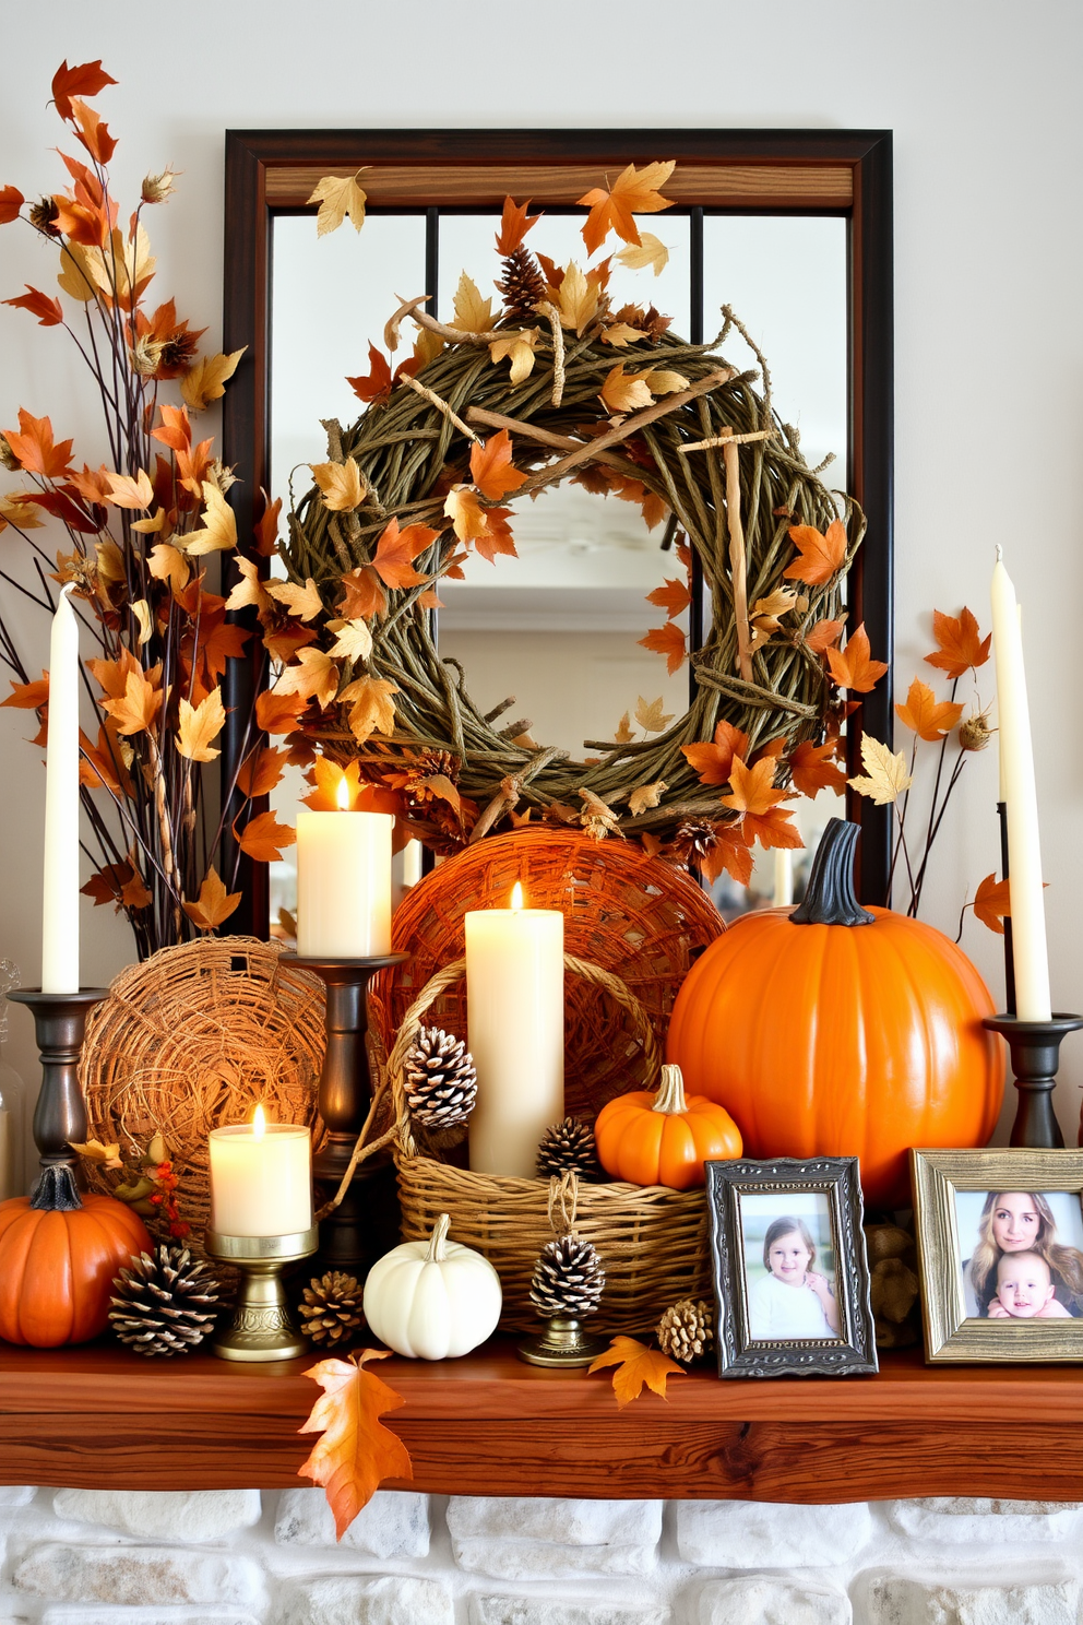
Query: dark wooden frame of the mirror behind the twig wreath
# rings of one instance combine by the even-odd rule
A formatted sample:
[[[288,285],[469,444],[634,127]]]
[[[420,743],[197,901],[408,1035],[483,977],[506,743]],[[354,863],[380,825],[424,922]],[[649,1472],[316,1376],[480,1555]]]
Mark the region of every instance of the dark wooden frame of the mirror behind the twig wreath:
[[[675,159],[667,185],[687,221],[687,338],[705,336],[705,291],[719,221],[818,218],[841,223],[846,348],[846,466],[839,483],[865,510],[869,528],[848,578],[851,624],[865,622],[878,658],[891,660],[891,135],[885,130],[231,130],[226,136],[224,349],[245,351],[226,393],[224,458],[239,476],[231,491],[237,531],[252,535],[258,492],[271,489],[274,231],[289,216],[315,216],[307,200],[325,174],[367,169],[369,213],[411,216],[424,260],[424,289],[440,292],[442,223],[495,216],[505,195],[533,198],[559,214],[606,171]],[[421,262],[419,262],[421,263]],[[792,275],[802,275],[800,265]],[[716,278],[714,278],[716,280]],[[391,291],[386,289],[388,314]],[[432,306],[430,306],[432,309]],[[708,318],[708,325],[713,317]],[[721,323],[719,323],[721,325]],[[710,336],[710,335],[708,335]],[[362,370],[364,353],[344,354],[341,372]],[[328,405],[326,413],[334,408]],[[242,611],[240,618],[248,611]],[[226,704],[244,717],[255,666],[231,663]],[[861,728],[891,736],[891,673],[865,696],[848,739]],[[231,717],[231,720],[232,720]],[[242,728],[226,725],[224,785],[234,778]],[[852,770],[852,769],[851,769]],[[857,798],[856,798],[857,800]],[[865,902],[888,889],[891,809],[857,800],[859,886]],[[237,930],[268,931],[268,874],[242,860],[244,918]]]

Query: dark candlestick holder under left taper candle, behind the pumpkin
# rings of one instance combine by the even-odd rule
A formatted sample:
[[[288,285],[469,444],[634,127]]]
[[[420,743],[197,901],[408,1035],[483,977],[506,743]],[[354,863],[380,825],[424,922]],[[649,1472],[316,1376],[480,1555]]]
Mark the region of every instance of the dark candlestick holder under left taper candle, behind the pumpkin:
[[[41,988],[13,988],[8,998],[26,1004],[34,1016],[34,1037],[41,1053],[42,1079],[34,1108],[34,1144],[41,1168],[65,1167],[80,1186],[86,1178],[71,1144],[86,1141],[86,1102],[80,1087],[80,1051],[86,1017],[109,988],[80,988],[78,993],[42,993]],[[39,1175],[41,1181],[41,1175]],[[36,1186],[37,1188],[37,1183]]]

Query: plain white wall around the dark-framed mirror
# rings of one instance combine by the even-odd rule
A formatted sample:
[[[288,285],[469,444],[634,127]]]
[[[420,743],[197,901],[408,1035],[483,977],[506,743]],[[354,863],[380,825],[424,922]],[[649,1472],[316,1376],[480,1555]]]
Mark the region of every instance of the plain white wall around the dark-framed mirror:
[[[1002,543],[1026,606],[1042,809],[1054,1004],[1083,1004],[1078,635],[1083,431],[1083,260],[1078,177],[1083,11],[1072,0],[399,0],[305,6],[286,0],[54,0],[5,18],[3,174],[52,188],[45,110],[60,58],[104,57],[120,88],[101,98],[130,197],[172,161],[179,195],[153,214],[159,286],[209,323],[221,309],[222,130],[305,125],[789,125],[890,127],[896,138],[898,679],[929,645],[929,611],[969,603],[987,622]],[[659,158],[666,154],[659,151]],[[0,281],[49,281],[39,245],[8,226]],[[89,436],[63,335],[0,312],[0,424],[16,406]],[[86,442],[76,440],[76,452]],[[97,447],[86,445],[97,460]],[[11,538],[0,538],[11,559]],[[41,627],[26,630],[41,666]],[[982,699],[990,682],[982,682]],[[42,774],[0,712],[0,952],[36,978]],[[995,756],[976,759],[943,837],[934,923],[955,934],[958,900],[995,866]],[[84,980],[109,977],[127,938],[88,915]],[[994,939],[964,944],[1002,996]],[[11,1060],[34,1072],[29,1022]],[[1083,1040],[1070,1040],[1060,1110],[1075,1139]]]

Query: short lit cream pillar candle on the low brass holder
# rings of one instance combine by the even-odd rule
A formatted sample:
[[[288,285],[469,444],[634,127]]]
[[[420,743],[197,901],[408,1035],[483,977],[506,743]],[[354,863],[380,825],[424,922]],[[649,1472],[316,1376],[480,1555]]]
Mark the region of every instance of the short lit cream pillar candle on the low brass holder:
[[[297,1123],[211,1129],[211,1230],[296,1235],[312,1228],[312,1136]]]

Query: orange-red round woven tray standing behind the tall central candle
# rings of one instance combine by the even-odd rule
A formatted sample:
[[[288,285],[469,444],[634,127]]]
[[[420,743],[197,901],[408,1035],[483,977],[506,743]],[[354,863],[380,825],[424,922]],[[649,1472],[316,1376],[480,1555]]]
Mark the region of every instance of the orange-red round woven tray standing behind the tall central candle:
[[[695,949],[724,930],[710,897],[682,869],[638,843],[581,830],[521,829],[490,835],[438,864],[395,913],[395,947],[409,960],[373,988],[373,1024],[391,1046],[429,978],[464,954],[463,916],[507,908],[523,882],[528,908],[563,912],[565,952],[612,970],[651,1017],[659,1040]],[[429,1022],[466,1037],[466,980],[434,1003]],[[641,1077],[635,1020],[604,990],[565,978],[565,1110],[593,1116]]]

